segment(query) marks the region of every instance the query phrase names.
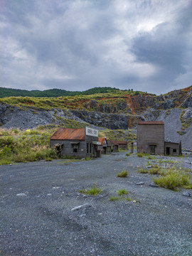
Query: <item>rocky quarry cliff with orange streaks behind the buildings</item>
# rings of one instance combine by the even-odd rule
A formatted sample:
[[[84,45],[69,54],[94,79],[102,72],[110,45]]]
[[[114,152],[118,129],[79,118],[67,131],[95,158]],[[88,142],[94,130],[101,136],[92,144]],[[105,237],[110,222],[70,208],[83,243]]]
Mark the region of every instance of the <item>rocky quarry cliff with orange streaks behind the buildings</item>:
[[[139,120],[162,120],[165,123],[166,140],[181,140],[183,147],[192,149],[192,86],[160,96],[145,93],[119,97],[100,95],[84,101],[78,97],[70,99],[70,105],[66,105],[68,102],[65,100],[63,108],[39,108],[31,103],[33,100],[30,98],[26,102],[30,102],[30,105],[0,101],[2,128],[32,129],[46,124],[65,125],[68,120],[73,120],[95,127],[136,129]]]

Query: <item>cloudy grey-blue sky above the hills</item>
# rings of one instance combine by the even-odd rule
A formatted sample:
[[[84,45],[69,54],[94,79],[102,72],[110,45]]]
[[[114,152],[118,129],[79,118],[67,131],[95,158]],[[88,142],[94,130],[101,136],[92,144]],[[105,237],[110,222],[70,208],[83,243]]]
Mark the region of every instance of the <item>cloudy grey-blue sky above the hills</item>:
[[[0,87],[192,85],[192,0],[0,0]]]

